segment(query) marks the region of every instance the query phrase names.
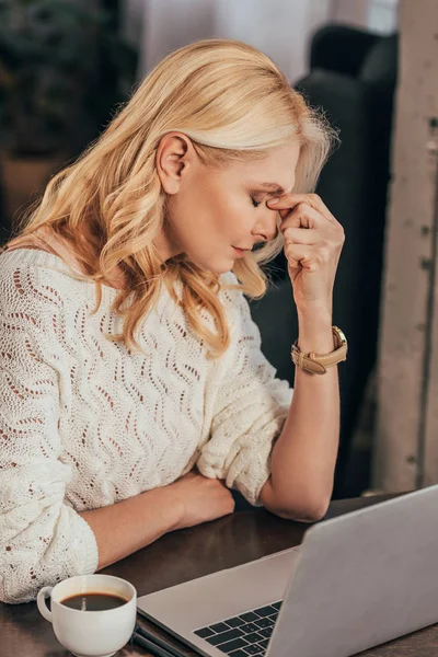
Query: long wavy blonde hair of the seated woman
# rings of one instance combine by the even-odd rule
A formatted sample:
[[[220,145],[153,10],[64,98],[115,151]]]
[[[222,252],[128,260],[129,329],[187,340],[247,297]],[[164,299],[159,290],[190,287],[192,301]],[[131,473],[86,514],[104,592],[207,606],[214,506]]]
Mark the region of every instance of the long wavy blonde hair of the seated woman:
[[[293,191],[303,193],[314,189],[334,138],[324,117],[291,89],[266,55],[238,41],[198,41],[155,66],[99,139],[53,176],[4,249],[28,241],[43,227],[61,238],[83,267],[84,274],[74,277],[96,284],[93,312],[102,301],[102,281],[118,266],[127,287],[119,290],[112,310],[124,318],[123,333],[107,338],[127,347],[140,349],[135,332],[164,283],[208,345],[209,356],[218,357],[229,345],[219,275],[201,270],[185,254],[163,264],[153,244],[163,229],[166,200],[157,149],[174,130],[191,138],[212,170],[263,158],[266,149],[296,138],[301,148]],[[261,265],[283,245],[279,233],[237,261],[239,289],[262,297],[267,277]],[[181,297],[176,280],[182,283]],[[212,316],[216,332],[201,321],[201,309]]]

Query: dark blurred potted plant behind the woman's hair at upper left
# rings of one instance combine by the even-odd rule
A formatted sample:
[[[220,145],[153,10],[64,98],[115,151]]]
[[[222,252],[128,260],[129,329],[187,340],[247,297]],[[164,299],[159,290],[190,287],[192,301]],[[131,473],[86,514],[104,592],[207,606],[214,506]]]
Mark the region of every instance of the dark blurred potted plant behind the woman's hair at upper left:
[[[135,69],[135,53],[112,16],[92,3],[0,0],[0,150],[10,221],[95,137]]]

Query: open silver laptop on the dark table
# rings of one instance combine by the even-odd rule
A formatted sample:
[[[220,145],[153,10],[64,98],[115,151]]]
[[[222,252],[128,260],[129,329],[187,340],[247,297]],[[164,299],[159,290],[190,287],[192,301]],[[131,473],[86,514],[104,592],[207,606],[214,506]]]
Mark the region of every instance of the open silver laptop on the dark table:
[[[313,525],[298,548],[138,599],[209,657],[347,657],[438,622],[438,485]]]

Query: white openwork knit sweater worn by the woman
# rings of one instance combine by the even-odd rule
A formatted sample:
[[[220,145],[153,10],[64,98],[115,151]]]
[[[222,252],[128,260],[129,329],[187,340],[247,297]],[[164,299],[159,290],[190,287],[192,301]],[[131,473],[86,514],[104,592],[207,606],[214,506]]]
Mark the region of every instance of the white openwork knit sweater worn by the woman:
[[[103,335],[122,331],[112,311],[117,290],[103,286],[91,315],[95,286],[70,273],[43,251],[0,255],[5,602],[28,601],[44,585],[96,569],[94,534],[77,511],[171,484],[195,463],[257,504],[292,395],[262,355],[241,292],[219,293],[231,346],[218,360],[206,358],[165,289],[141,326],[140,354]]]

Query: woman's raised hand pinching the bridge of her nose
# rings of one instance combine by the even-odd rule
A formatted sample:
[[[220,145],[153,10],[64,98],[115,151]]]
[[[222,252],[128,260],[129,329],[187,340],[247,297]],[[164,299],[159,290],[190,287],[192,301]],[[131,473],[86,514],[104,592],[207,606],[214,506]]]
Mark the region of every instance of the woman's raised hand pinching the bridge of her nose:
[[[279,230],[297,308],[331,310],[343,227],[316,194],[284,194],[266,205],[283,219]]]

